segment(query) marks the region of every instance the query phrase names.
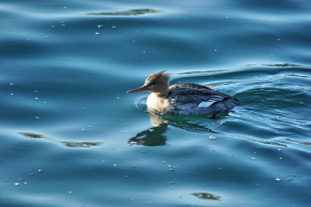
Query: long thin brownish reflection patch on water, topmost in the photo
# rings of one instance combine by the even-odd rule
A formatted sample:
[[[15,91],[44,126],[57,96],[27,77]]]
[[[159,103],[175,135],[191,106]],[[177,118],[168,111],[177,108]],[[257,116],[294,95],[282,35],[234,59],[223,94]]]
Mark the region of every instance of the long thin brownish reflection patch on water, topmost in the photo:
[[[121,12],[89,12],[85,15],[103,15],[103,16],[137,16],[143,14],[154,14],[154,13],[162,13],[163,10],[160,9],[148,9],[148,8],[141,8],[141,9],[128,9],[126,11]]]

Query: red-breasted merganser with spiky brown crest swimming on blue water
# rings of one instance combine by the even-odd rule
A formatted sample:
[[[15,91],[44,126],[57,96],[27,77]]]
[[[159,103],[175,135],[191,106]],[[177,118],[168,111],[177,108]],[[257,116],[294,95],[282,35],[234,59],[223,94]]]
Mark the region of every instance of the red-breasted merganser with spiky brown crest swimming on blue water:
[[[226,111],[235,106],[228,99],[239,99],[222,94],[204,85],[180,83],[169,87],[171,74],[162,70],[151,74],[145,84],[128,93],[149,91],[147,106],[165,114],[202,114]]]

